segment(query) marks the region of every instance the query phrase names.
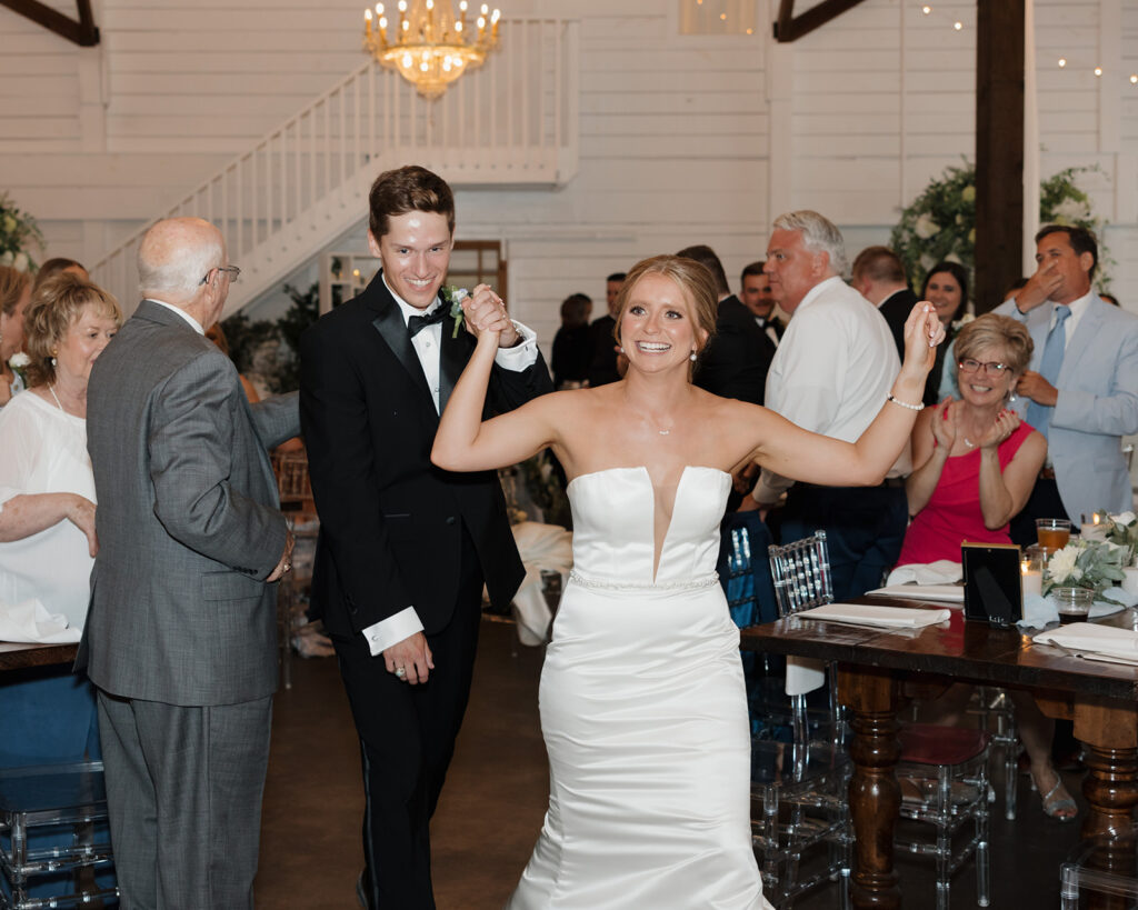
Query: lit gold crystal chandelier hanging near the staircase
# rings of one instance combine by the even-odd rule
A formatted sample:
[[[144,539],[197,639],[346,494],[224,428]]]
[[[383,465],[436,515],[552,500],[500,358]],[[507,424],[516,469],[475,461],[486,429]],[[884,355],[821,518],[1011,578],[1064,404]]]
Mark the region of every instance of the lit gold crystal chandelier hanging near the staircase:
[[[379,63],[397,69],[424,98],[438,98],[447,85],[476,66],[497,47],[501,11],[483,5],[467,26],[467,0],[455,18],[451,0],[399,0],[399,20],[388,28],[384,5],[363,14],[363,46]]]

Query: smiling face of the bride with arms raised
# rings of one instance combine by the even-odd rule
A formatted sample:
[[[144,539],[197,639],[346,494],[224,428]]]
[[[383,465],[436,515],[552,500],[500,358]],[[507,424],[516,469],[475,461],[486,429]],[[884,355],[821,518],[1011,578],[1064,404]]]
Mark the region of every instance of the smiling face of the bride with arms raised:
[[[691,296],[666,275],[649,272],[628,292],[620,315],[620,344],[628,363],[657,372],[691,355],[707,341],[696,326]]]

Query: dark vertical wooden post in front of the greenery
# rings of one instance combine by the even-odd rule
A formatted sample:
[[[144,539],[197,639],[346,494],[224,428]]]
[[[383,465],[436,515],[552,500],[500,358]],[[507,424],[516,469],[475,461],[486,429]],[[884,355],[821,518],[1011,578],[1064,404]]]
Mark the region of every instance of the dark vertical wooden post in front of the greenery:
[[[1023,272],[1024,0],[976,2],[978,313]]]

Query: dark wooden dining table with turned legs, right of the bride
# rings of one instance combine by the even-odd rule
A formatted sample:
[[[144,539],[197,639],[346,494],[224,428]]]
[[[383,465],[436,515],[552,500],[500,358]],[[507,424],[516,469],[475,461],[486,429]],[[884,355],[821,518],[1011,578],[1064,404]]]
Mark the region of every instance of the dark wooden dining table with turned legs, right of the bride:
[[[945,607],[943,603],[863,597],[857,603]],[[1131,628],[1130,611],[1099,622]],[[1074,722],[1086,746],[1082,791],[1089,811],[1082,837],[1118,836],[1099,868],[1133,864],[1131,832],[1138,805],[1138,667],[1069,656],[1033,645],[1014,628],[965,621],[951,610],[948,623],[891,631],[786,617],[741,630],[742,647],[794,654],[838,665],[838,697],[850,711],[850,814],[856,838],[852,897],[856,908],[901,905],[893,869],[893,833],[901,793],[896,767],[900,754],[897,712],[907,680],[976,682],[1029,688],[1048,717]],[[1129,863],[1129,866],[1128,866]],[[1056,886],[1058,870],[1055,871]]]

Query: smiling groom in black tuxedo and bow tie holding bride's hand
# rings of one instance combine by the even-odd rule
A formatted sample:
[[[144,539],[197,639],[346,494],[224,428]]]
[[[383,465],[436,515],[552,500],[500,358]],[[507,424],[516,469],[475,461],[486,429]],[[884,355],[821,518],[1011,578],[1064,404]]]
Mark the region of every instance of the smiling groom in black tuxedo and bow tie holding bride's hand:
[[[324,621],[363,760],[361,905],[435,907],[429,825],[470,692],[483,585],[509,604],[523,571],[493,471],[430,463],[439,413],[475,348],[439,299],[454,235],[446,182],[379,175],[368,245],[382,271],[300,341],[300,420]],[[500,307],[480,289],[468,318]],[[552,391],[533,332],[502,332],[492,407]]]

